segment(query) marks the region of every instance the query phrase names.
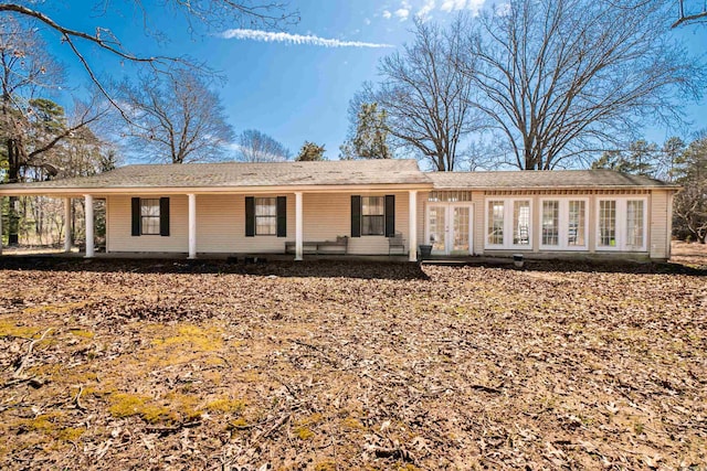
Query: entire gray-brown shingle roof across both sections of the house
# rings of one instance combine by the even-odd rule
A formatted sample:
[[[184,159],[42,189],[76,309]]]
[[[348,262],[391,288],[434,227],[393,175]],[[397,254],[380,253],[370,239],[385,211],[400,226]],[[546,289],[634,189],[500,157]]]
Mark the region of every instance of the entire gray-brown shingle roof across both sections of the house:
[[[94,176],[48,182],[0,184],[0,194],[66,192],[102,189],[200,189],[257,186],[318,186],[434,184],[437,190],[677,188],[646,176],[611,170],[423,173],[414,160],[344,160],[277,163],[188,163],[127,165]]]

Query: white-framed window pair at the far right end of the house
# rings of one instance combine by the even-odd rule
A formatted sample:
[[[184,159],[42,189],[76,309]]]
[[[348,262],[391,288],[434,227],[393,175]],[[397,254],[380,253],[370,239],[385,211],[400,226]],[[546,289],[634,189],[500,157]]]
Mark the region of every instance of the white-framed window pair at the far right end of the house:
[[[599,200],[597,249],[645,250],[646,206],[642,197]]]

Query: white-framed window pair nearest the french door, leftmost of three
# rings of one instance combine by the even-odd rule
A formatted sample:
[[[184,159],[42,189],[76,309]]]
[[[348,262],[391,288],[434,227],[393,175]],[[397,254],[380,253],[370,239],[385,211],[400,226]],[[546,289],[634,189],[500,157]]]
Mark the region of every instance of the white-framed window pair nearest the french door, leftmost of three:
[[[486,247],[530,248],[531,220],[530,200],[487,200]]]

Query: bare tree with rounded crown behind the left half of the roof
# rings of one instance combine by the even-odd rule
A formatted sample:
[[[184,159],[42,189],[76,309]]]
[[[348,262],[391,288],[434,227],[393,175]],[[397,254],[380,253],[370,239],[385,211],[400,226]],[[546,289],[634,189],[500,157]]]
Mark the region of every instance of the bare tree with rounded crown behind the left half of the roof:
[[[116,96],[129,110],[125,133],[151,160],[219,160],[233,139],[219,96],[189,69],[146,75],[137,85],[123,82],[116,88]]]

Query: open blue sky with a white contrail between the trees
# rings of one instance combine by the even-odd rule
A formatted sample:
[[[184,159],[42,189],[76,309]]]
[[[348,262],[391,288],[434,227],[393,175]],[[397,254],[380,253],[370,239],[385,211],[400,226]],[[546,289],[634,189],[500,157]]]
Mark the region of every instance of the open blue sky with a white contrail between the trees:
[[[141,54],[188,54],[204,61],[226,77],[218,92],[236,133],[258,129],[294,153],[305,140],[324,143],[327,157],[336,158],[346,138],[349,99],[365,81],[377,79],[381,57],[412,40],[413,18],[422,14],[429,21],[449,22],[460,10],[478,9],[484,0],[292,0],[291,9],[299,11],[300,21],[285,32],[313,38],[268,42],[247,39],[253,33],[243,32],[232,32],[230,39],[224,38],[229,34],[190,35],[181,18],[147,7],[149,28],[165,32],[168,39],[156,42],[145,36],[139,12],[96,11],[96,3],[103,4],[94,0],[46,2],[42,11],[74,29],[108,26],[127,49]],[[707,52],[707,24],[687,25],[673,34],[684,39],[693,53]],[[68,47],[55,35],[48,34],[46,40],[50,51],[66,64],[71,82],[85,84],[87,76]],[[333,46],[329,41],[327,46],[323,40],[347,44]],[[104,76],[131,72],[105,53],[86,49],[86,55]],[[704,100],[686,111],[694,121],[692,130],[707,128]],[[686,138],[689,131],[683,130]],[[657,142],[676,132],[646,130]]]

